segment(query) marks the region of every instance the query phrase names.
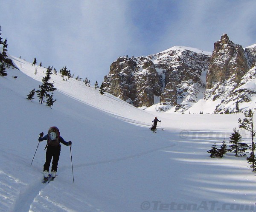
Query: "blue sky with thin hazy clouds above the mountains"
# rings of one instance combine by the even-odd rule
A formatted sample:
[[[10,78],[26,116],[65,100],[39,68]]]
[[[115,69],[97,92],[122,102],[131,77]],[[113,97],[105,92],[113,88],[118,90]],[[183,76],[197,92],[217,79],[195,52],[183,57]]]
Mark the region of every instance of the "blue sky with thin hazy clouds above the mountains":
[[[119,56],[147,56],[175,45],[212,51],[227,33],[256,43],[255,0],[5,0],[2,37],[11,55],[92,84]]]

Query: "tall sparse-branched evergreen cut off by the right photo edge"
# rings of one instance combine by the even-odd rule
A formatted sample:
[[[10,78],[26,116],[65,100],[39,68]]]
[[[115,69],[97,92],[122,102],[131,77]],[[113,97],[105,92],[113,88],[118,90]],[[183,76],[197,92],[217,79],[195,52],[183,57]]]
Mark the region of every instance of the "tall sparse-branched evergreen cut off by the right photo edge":
[[[250,132],[250,136],[252,138],[252,143],[249,147],[251,150],[250,157],[246,158],[249,164],[252,164],[250,167],[253,168],[253,171],[256,171],[256,157],[254,154],[255,144],[254,144],[254,136],[255,130],[253,125],[253,111],[250,109],[244,112],[245,118],[243,120],[238,119],[239,127]]]

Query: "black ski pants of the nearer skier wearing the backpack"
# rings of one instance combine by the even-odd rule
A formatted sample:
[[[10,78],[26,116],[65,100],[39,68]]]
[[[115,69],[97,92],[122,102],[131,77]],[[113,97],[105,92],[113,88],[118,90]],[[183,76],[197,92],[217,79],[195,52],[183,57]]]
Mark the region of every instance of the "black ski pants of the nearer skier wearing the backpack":
[[[44,171],[49,172],[49,167],[50,167],[51,160],[52,160],[52,171],[57,172],[58,160],[60,158],[60,153],[61,153],[61,145],[59,145],[58,147],[52,147],[52,146],[48,145],[46,154],[45,154]]]

